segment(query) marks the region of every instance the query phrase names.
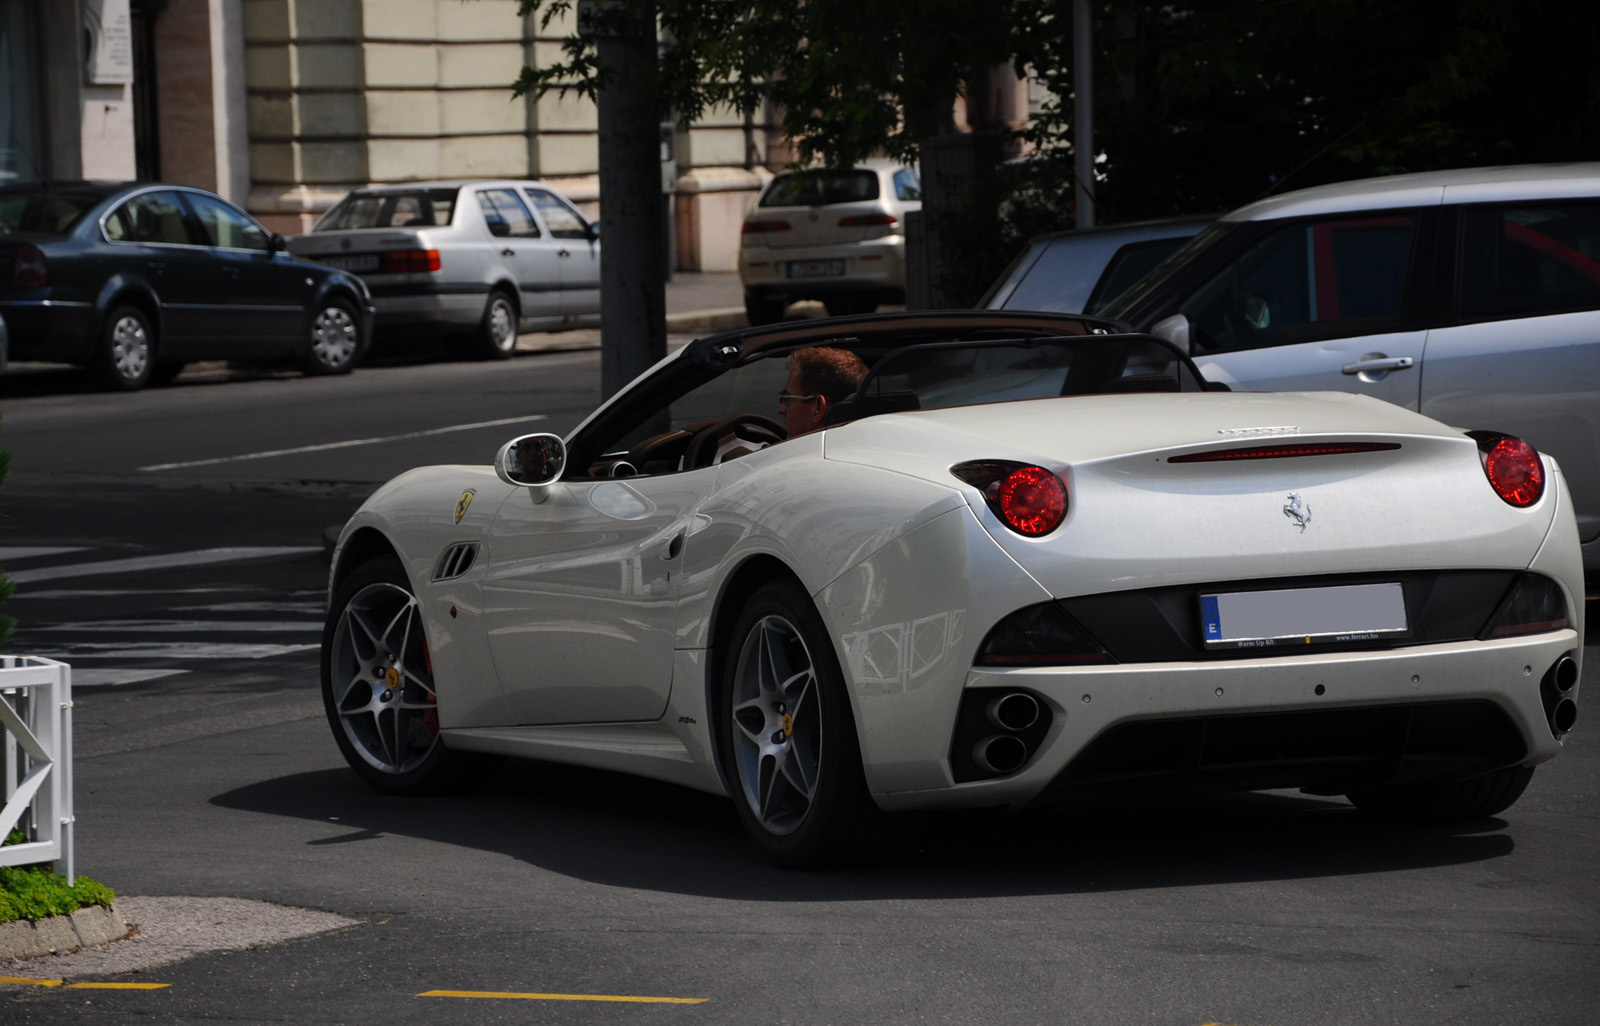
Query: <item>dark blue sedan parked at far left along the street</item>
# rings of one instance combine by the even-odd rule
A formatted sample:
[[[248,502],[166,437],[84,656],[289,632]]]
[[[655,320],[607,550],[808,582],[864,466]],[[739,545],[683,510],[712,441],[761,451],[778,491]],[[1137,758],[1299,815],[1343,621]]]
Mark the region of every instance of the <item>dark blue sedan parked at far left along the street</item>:
[[[354,274],[203,189],[154,182],[0,186],[0,319],[11,360],[88,367],[110,389],[189,360],[360,362],[373,317]]]

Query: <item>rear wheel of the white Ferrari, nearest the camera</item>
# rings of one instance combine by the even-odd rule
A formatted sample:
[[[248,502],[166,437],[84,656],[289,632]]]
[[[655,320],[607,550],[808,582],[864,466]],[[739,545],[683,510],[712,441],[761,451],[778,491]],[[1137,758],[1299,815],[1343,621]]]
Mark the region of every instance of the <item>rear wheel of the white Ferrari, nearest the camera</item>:
[[[750,840],[794,869],[872,860],[893,839],[867,794],[845,679],[811,599],[763,584],[722,653],[717,743]]]

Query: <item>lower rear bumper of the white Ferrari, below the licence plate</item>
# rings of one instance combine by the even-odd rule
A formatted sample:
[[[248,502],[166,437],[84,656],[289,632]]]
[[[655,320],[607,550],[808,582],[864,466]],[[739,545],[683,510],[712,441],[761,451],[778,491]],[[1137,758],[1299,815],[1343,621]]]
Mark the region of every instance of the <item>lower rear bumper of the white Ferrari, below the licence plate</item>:
[[[1541,682],[1563,655],[1581,658],[1581,651],[1578,632],[1565,629],[1318,656],[973,669],[968,696],[984,701],[1022,691],[1043,709],[1048,727],[1021,770],[955,783],[952,765],[966,755],[954,751],[963,741],[957,731],[946,751],[931,751],[930,741],[920,773],[907,773],[912,767],[902,763],[902,783],[922,776],[926,788],[874,797],[883,808],[904,810],[1021,807],[1114,784],[1339,792],[1429,780],[1429,773],[1442,780],[1534,765],[1562,747]],[[1565,698],[1576,701],[1578,688]],[[1413,722],[1445,723],[1435,727],[1443,733],[1456,730],[1451,723],[1482,723],[1482,751],[1474,749],[1475,762],[1466,760],[1472,768],[1459,752],[1451,760],[1426,746],[1418,749],[1418,741],[1411,743],[1416,751],[1408,751],[1403,733],[1400,747],[1384,747],[1371,736],[1379,725],[1405,731]],[[1005,730],[995,727],[994,733]],[[950,735],[942,736],[949,743]],[[1173,751],[1150,751],[1160,744]],[[1382,767],[1374,768],[1384,759],[1394,762],[1387,776]]]

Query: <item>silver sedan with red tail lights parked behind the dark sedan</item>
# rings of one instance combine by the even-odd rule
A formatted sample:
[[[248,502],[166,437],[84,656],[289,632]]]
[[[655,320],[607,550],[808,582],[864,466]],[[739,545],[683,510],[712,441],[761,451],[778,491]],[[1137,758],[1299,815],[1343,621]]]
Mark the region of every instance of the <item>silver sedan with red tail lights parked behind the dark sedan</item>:
[[[443,331],[504,359],[518,331],[600,319],[600,230],[536,181],[355,189],[290,251],[362,275],[379,339]]]

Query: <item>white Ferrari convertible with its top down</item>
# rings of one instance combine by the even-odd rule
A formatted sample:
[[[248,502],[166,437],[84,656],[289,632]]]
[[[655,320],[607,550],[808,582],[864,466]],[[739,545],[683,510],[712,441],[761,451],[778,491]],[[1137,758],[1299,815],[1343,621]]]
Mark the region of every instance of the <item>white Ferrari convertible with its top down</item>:
[[[802,394],[802,347],[864,376]],[[384,791],[622,770],[731,796],[792,866],[906,810],[1152,789],[1488,816],[1576,720],[1582,570],[1554,461],[1469,427],[1219,391],[1075,315],[699,339],[360,507],[328,719]]]

